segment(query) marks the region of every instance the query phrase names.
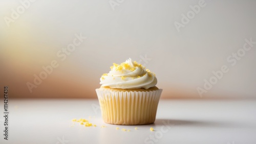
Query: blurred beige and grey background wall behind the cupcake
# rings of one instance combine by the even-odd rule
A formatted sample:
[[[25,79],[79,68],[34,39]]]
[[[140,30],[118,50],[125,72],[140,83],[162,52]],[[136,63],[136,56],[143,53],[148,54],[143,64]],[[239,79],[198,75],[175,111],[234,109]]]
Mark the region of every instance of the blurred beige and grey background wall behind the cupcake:
[[[255,6],[0,1],[0,90],[8,85],[11,98],[97,98],[101,74],[131,57],[156,73],[162,98],[256,97]]]

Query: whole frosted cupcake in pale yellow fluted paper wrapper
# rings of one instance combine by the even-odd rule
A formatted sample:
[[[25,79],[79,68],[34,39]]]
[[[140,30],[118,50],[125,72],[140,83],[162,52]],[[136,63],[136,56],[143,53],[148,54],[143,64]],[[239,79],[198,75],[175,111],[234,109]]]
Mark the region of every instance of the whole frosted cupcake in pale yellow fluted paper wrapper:
[[[155,74],[131,59],[110,68],[96,89],[103,121],[114,125],[154,123],[162,93],[155,86]]]

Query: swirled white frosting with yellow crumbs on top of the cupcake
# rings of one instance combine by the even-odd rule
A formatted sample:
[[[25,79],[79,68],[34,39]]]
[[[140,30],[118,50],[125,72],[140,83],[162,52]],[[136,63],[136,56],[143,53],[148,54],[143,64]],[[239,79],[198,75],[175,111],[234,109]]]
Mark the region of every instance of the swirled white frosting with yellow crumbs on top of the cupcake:
[[[155,87],[157,78],[150,70],[131,58],[120,65],[113,63],[109,73],[100,78],[101,87],[113,89],[148,89]]]

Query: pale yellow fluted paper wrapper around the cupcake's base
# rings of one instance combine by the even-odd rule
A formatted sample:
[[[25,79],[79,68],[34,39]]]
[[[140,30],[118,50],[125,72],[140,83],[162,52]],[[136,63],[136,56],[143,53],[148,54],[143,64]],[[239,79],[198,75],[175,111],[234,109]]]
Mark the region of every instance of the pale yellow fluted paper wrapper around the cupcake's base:
[[[145,125],[156,120],[162,89],[115,92],[96,89],[103,121],[115,125]]]

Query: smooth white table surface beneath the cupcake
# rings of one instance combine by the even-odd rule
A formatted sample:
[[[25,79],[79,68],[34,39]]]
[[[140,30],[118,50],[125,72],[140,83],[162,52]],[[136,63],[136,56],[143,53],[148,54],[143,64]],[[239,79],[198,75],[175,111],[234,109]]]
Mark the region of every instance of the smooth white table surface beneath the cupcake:
[[[9,140],[2,135],[0,143],[256,143],[253,99],[161,99],[156,122],[141,126],[105,124],[96,99],[9,99],[9,111]],[[87,119],[97,127],[78,123],[71,127],[74,118]],[[2,116],[2,132],[3,120]]]

